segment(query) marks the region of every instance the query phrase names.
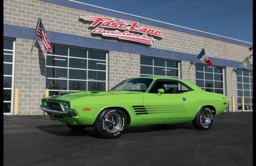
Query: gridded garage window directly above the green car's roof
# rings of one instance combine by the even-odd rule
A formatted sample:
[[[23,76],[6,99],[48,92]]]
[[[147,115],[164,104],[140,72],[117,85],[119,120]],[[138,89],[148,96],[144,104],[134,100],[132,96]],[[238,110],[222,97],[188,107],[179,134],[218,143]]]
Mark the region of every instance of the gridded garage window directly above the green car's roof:
[[[178,78],[178,62],[141,56],[141,76],[167,76]]]

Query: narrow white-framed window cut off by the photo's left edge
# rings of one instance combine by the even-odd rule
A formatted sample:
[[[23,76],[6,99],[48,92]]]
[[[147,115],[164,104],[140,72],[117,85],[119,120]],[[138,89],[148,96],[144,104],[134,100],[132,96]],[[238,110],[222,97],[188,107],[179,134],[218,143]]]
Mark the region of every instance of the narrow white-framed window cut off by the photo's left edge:
[[[3,114],[12,114],[15,42],[3,38]]]

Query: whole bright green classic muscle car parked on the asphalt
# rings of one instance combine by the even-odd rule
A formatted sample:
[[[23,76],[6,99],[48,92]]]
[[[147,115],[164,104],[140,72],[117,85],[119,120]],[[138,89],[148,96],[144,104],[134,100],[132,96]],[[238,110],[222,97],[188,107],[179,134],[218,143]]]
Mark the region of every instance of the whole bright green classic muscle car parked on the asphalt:
[[[41,100],[41,110],[73,130],[94,126],[102,137],[119,137],[126,126],[191,122],[211,128],[229,98],[171,77],[127,79],[110,91],[85,91]]]

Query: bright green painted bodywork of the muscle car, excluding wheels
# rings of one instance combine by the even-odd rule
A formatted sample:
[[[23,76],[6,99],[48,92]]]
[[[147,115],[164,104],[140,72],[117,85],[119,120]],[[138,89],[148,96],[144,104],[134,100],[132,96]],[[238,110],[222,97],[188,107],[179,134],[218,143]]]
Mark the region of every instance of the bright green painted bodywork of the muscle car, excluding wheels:
[[[179,123],[192,121],[197,112],[205,106],[211,107],[213,114],[219,115],[226,110],[229,99],[218,93],[211,93],[202,90],[195,84],[183,79],[171,77],[138,77],[134,78],[135,88],[140,90],[110,90],[110,91],[83,91],[78,93],[65,94],[64,96],[47,97],[41,100],[41,105],[47,108],[45,102],[58,102],[62,108],[65,103],[70,106],[69,110],[75,111],[76,116],[56,116],[60,122],[72,125],[93,126],[97,116],[107,108],[115,108],[125,111],[129,116],[129,126],[152,125],[162,123]],[[150,84],[136,83],[140,79],[149,79]],[[129,82],[128,79],[127,82]],[[150,93],[150,90],[157,82],[174,81],[184,85],[189,90],[184,91],[175,87],[177,93],[168,94],[165,90],[157,93]],[[125,80],[124,82],[125,83]],[[122,84],[121,84],[122,86]],[[117,89],[119,87],[117,86]],[[127,87],[129,88],[129,87]],[[226,105],[223,103],[227,103]],[[83,108],[90,107],[90,111],[83,111]],[[63,110],[68,112],[68,110]]]

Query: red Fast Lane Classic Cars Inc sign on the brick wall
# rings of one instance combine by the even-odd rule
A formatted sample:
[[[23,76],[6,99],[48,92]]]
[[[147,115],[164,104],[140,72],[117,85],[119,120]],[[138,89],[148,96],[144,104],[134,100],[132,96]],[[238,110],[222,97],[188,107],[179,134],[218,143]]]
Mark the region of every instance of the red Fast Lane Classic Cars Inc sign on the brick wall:
[[[102,36],[120,38],[121,40],[136,41],[138,43],[149,45],[151,45],[153,41],[156,40],[154,37],[163,37],[162,31],[148,29],[146,27],[138,28],[139,23],[137,22],[131,22],[128,20],[120,20],[120,22],[114,22],[113,18],[108,17],[80,16],[80,18],[92,22],[90,24],[91,27],[99,26],[93,29],[92,33],[101,34]],[[113,30],[106,30],[106,28]]]

